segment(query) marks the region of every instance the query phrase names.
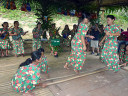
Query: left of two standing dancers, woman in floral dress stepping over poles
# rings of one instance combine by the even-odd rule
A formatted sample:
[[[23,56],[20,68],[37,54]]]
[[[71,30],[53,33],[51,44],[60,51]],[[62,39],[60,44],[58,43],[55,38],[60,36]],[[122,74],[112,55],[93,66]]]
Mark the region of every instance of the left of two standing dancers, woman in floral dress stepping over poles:
[[[83,17],[83,21],[79,24],[78,32],[75,34],[71,41],[71,53],[64,68],[69,69],[68,65],[71,64],[76,74],[82,69],[84,61],[86,59],[86,44],[85,37],[94,38],[87,34],[87,25],[89,22],[88,17]]]

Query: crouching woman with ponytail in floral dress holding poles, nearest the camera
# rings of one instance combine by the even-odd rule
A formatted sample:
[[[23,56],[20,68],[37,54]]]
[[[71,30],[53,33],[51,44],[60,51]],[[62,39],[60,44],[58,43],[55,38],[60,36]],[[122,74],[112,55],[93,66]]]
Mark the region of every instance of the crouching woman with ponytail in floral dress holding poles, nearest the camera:
[[[36,86],[46,87],[40,82],[40,68],[37,66],[41,62],[41,54],[35,51],[24,63],[21,63],[16,74],[12,78],[14,91],[23,93],[23,96],[35,96],[30,93]]]

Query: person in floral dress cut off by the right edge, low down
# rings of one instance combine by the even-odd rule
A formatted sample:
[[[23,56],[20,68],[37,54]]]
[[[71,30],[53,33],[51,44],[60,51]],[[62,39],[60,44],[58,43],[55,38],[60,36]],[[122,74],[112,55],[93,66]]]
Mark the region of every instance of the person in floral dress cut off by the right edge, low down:
[[[123,65],[126,66],[128,64],[128,44],[125,45],[124,49],[121,49],[119,57]]]

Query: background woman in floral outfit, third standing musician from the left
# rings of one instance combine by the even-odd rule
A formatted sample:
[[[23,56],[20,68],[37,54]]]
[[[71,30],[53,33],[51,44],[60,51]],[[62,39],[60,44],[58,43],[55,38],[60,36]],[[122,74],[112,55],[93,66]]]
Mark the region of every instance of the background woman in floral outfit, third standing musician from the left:
[[[37,26],[33,29],[33,51],[41,48],[41,35],[43,35],[43,30],[41,28],[41,23],[38,22]]]

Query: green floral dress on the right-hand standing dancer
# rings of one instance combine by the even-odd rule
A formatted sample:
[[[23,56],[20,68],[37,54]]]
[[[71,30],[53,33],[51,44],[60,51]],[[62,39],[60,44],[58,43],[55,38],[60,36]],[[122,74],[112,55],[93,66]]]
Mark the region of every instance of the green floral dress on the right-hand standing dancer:
[[[121,33],[118,25],[106,26],[105,32]],[[115,72],[120,70],[117,46],[117,36],[107,36],[101,53],[101,60],[106,63],[108,69],[112,69]]]

